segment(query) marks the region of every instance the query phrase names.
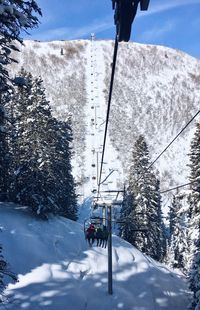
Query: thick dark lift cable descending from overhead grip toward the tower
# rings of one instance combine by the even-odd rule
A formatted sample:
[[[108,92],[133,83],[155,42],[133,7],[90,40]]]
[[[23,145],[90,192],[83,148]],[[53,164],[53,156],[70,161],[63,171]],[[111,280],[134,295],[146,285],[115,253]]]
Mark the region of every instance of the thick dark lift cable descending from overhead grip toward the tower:
[[[105,124],[105,131],[104,131],[103,150],[102,150],[102,157],[101,157],[101,166],[100,166],[100,173],[99,173],[99,183],[98,183],[98,194],[97,194],[97,196],[99,196],[100,186],[101,186],[104,153],[105,153],[105,147],[106,147],[106,137],[107,137],[107,132],[108,132],[108,122],[109,122],[109,116],[110,116],[110,106],[111,106],[112,90],[113,90],[113,83],[114,83],[114,76],[115,76],[115,66],[116,66],[116,60],[117,60],[117,51],[118,51],[118,39],[116,36],[114,54],[113,54],[112,73],[111,73],[111,81],[110,81],[110,89],[109,89],[109,97],[108,97],[108,107],[107,107],[107,114],[106,114],[106,124]]]

